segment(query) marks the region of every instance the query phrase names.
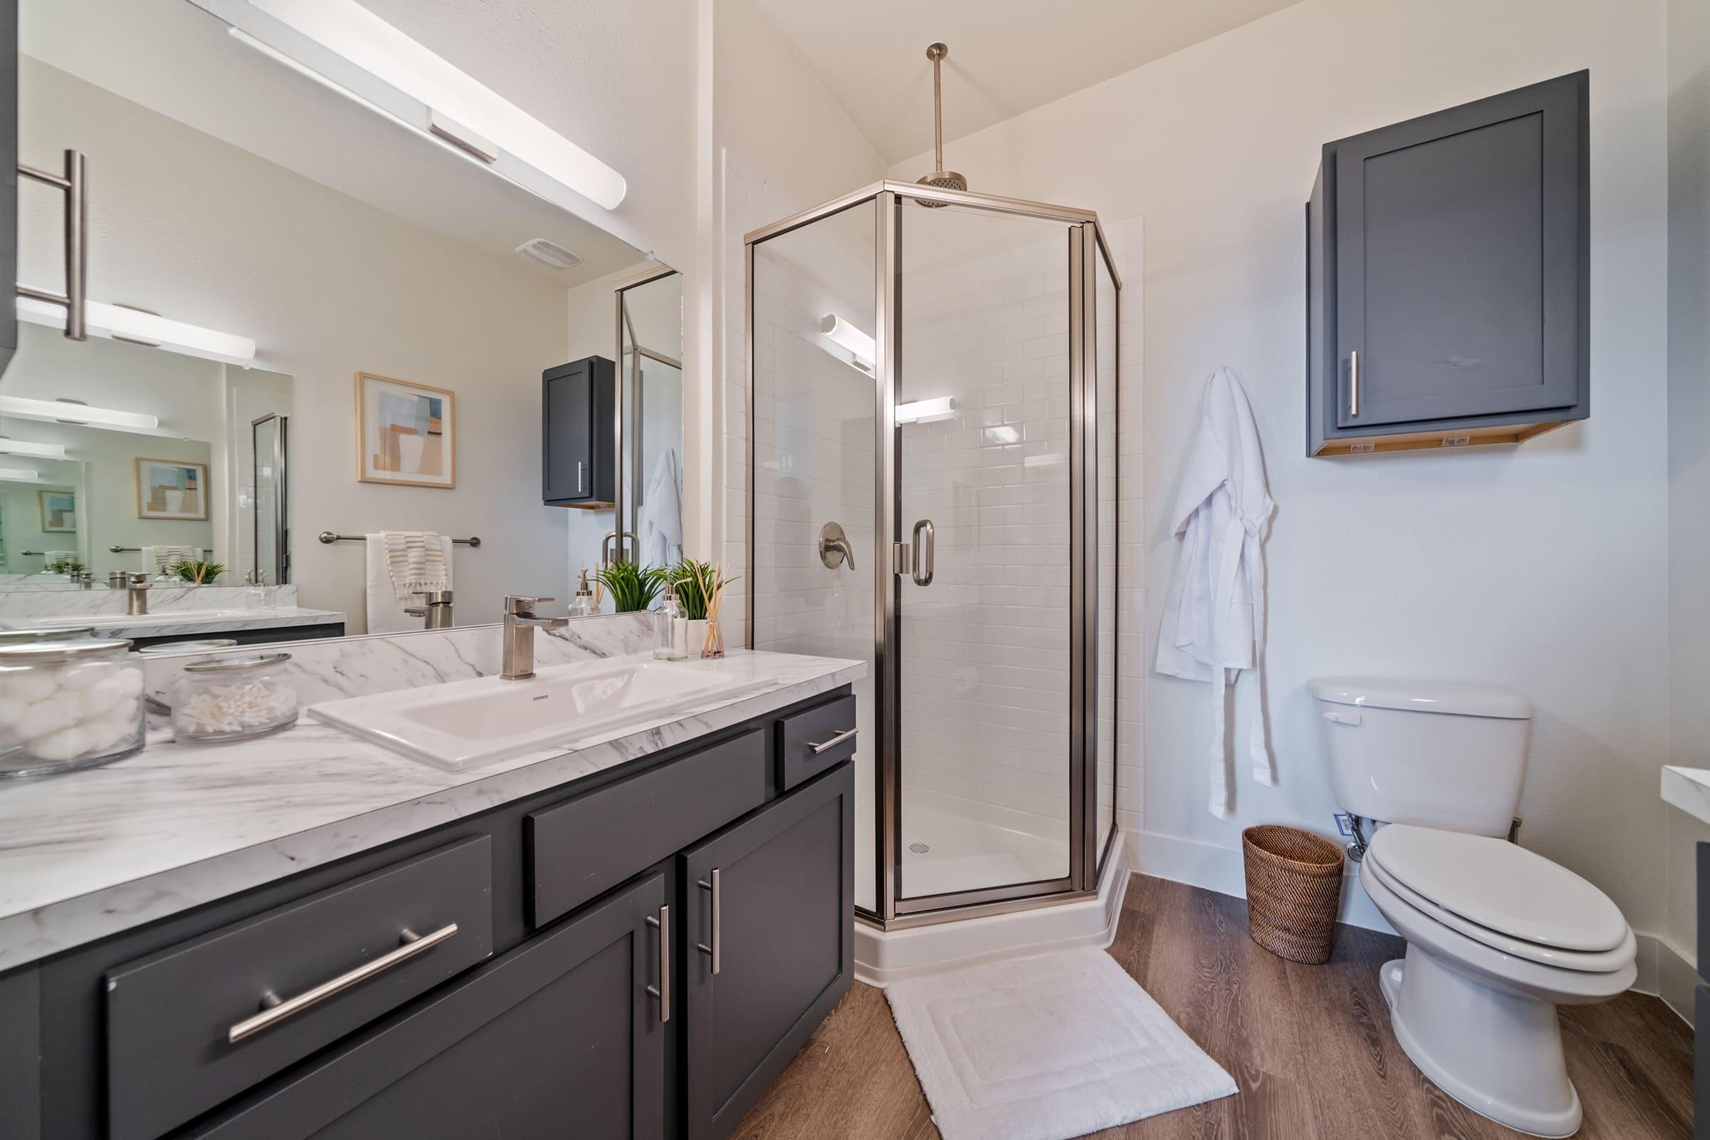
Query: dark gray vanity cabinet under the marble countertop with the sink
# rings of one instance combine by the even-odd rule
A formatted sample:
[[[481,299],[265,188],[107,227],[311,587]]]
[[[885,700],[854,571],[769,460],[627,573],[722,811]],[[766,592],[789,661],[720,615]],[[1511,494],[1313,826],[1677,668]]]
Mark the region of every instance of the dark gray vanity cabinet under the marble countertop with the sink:
[[[0,1138],[727,1135],[853,983],[853,764],[787,786],[778,749],[826,709],[846,685],[0,974]]]

